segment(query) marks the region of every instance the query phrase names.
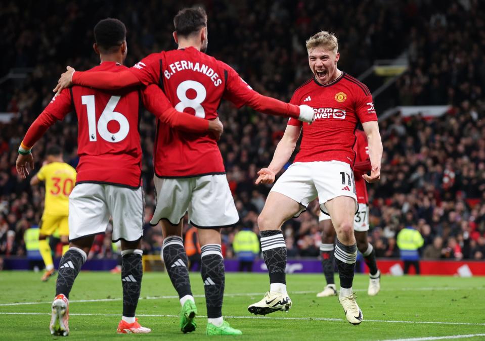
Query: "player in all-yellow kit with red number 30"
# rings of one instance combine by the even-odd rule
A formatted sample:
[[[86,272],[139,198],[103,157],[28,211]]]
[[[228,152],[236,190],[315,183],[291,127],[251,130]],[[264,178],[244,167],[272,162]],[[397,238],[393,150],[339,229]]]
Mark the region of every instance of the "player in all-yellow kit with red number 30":
[[[59,229],[62,254],[69,248],[69,194],[76,182],[76,170],[62,160],[59,147],[50,147],[46,157],[46,164],[30,179],[31,185],[46,182],[46,198],[39,231],[39,252],[46,265],[42,281],[47,281],[55,271],[51,247],[46,238]]]

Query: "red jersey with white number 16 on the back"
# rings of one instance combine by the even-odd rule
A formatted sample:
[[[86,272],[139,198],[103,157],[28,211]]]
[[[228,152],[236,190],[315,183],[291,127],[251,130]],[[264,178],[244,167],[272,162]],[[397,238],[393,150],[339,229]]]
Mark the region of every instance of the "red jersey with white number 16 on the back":
[[[104,62],[87,71],[126,70]],[[94,182],[139,187],[142,150],[138,132],[137,88],[106,91],[73,86],[64,89],[45,111],[59,120],[74,109],[78,120],[77,183]]]

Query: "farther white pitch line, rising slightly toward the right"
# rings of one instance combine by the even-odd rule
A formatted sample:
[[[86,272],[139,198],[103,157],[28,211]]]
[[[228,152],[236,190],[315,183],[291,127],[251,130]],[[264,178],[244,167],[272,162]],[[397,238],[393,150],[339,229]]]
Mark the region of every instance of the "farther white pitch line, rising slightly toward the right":
[[[465,290],[469,289],[469,287],[422,287],[422,288],[401,288],[401,289],[381,289],[381,291],[434,291],[434,290]],[[481,288],[473,288],[473,289],[481,289]],[[367,289],[354,289],[356,292],[367,292]],[[300,294],[317,294],[317,291],[291,291],[292,295],[300,295]],[[237,297],[237,296],[258,296],[263,295],[263,293],[243,293],[243,294],[224,294],[224,297]],[[196,298],[204,298],[204,295],[194,295]],[[169,299],[179,299],[179,296],[154,296],[154,297],[141,297],[140,300],[169,300]],[[111,301],[121,301],[122,298],[113,298],[113,299],[92,299],[92,300],[72,300],[69,301],[70,303],[86,303],[86,302],[111,302]],[[28,306],[34,304],[51,304],[52,301],[43,301],[43,302],[14,302],[14,303],[0,303],[0,307],[10,307],[10,306]]]

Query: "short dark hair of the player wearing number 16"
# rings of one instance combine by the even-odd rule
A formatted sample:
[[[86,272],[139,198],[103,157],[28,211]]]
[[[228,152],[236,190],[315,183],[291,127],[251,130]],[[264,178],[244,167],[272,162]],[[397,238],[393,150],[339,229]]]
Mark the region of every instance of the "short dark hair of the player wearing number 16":
[[[94,27],[94,38],[101,52],[114,52],[126,40],[126,27],[118,19],[100,20]]]

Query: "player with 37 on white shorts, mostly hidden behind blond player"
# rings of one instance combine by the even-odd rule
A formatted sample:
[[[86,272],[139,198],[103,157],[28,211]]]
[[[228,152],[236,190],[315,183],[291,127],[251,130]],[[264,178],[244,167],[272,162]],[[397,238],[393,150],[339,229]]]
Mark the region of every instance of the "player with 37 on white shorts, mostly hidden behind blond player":
[[[354,164],[354,176],[356,183],[357,203],[359,209],[354,218],[354,234],[357,241],[357,250],[364,256],[364,260],[369,267],[370,279],[367,294],[375,296],[380,290],[380,271],[377,269],[376,252],[372,244],[367,241],[367,231],[369,231],[369,199],[367,196],[366,182],[362,178],[366,172],[371,170],[369,160],[369,151],[365,133],[357,129],[357,140],[354,144],[356,152],[356,162]],[[334,282],[334,242],[335,229],[332,225],[330,216],[319,210],[319,224],[322,228],[322,243],[320,244],[320,253],[322,255],[322,268],[327,280],[327,286],[317,297],[327,297],[337,295],[337,289]]]

